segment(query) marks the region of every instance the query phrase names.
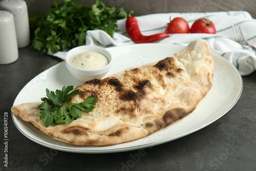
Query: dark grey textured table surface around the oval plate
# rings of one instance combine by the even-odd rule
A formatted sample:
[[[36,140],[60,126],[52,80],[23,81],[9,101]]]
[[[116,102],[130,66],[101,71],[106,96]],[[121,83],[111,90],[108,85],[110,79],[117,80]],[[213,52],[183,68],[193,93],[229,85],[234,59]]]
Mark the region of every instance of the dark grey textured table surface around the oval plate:
[[[39,145],[18,131],[11,118],[17,94],[36,75],[61,62],[30,47],[0,65],[0,170],[256,170],[256,72],[243,76],[243,92],[223,117],[193,134],[143,149],[111,154],[78,154]],[[8,114],[5,152],[4,114]],[[5,155],[8,155],[8,167]]]

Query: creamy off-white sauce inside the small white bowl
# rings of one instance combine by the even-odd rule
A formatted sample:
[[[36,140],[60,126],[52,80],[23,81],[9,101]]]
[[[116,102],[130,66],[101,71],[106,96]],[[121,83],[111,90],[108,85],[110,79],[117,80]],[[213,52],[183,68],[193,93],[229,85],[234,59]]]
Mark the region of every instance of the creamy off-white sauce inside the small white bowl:
[[[79,53],[69,59],[72,66],[83,70],[96,70],[108,65],[108,59],[97,52]]]

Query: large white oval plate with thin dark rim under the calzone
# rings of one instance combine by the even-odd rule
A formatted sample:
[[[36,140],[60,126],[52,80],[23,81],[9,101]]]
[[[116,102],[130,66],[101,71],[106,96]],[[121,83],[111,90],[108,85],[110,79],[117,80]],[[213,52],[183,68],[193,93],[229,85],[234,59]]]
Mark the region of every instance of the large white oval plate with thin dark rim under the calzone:
[[[184,46],[162,44],[137,44],[123,47],[111,47],[113,67],[108,75],[125,69],[155,62],[172,56],[182,50]],[[12,115],[17,129],[32,141],[59,151],[72,153],[116,153],[151,147],[169,142],[193,132],[196,132],[226,114],[241,96],[243,82],[238,70],[226,59],[213,54],[215,68],[212,88],[200,102],[197,109],[180,120],[145,138],[111,146],[77,146],[55,140],[41,133],[33,125]],[[107,76],[108,76],[107,75]],[[40,73],[19,92],[13,105],[26,102],[40,101],[46,97],[46,89],[55,91],[66,86],[79,86],[69,73],[65,62],[60,62],[48,70]]]

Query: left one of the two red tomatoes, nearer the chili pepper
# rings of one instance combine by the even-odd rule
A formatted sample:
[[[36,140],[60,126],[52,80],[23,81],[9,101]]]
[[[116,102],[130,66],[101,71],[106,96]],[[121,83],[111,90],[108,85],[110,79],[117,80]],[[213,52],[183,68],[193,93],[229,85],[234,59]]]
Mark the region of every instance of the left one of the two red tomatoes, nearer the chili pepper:
[[[165,29],[165,33],[175,34],[175,33],[189,33],[189,26],[185,19],[181,17],[176,17],[170,21]]]

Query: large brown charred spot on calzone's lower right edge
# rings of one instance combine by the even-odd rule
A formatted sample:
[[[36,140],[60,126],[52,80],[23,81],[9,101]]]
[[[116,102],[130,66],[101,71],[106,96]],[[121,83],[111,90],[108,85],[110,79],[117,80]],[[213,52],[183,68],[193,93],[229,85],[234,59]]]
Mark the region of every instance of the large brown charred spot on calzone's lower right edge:
[[[163,121],[167,125],[170,125],[177,120],[185,117],[186,115],[188,115],[188,112],[186,112],[183,108],[175,108],[164,113]]]

